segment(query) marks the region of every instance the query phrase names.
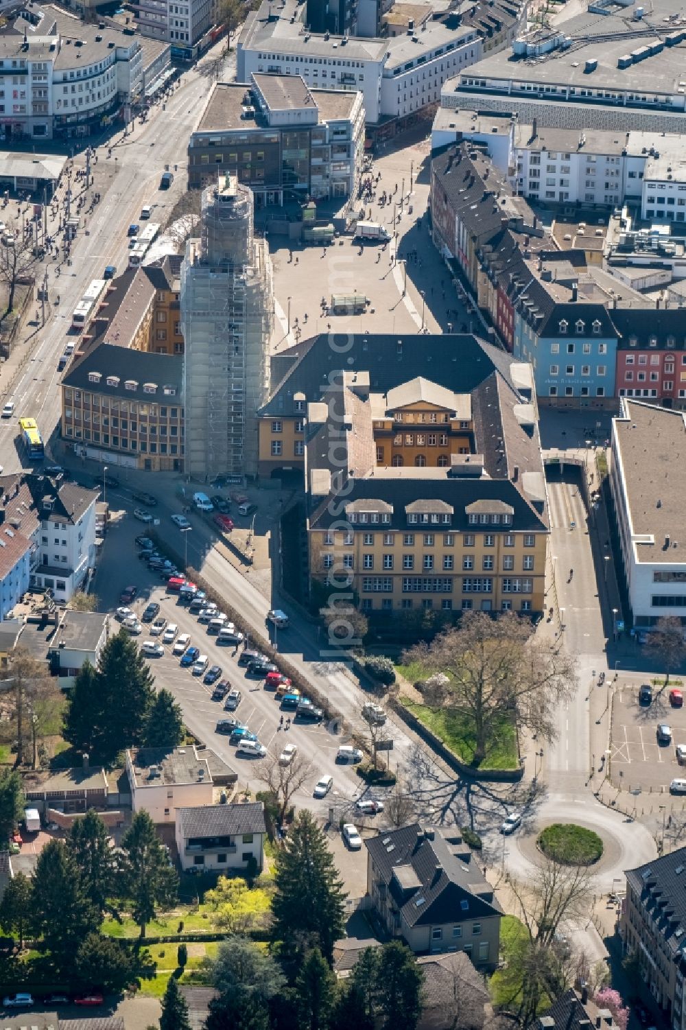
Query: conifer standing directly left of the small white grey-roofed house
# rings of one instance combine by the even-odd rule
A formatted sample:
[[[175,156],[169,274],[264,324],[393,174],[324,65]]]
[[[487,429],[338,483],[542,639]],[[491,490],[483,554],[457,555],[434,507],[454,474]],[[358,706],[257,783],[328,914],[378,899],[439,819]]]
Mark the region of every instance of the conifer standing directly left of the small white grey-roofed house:
[[[159,905],[171,906],[176,897],[178,877],[167,861],[155,823],[145,811],[137,812],[122,840],[122,888],[133,902],[133,918],[145,927],[155,919]]]

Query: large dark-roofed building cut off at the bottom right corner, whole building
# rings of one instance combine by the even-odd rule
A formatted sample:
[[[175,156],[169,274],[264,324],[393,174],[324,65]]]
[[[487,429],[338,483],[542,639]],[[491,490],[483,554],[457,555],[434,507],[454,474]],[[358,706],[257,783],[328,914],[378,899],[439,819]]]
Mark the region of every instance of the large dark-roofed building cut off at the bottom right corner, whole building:
[[[627,869],[619,933],[636,956],[642,987],[673,1030],[686,1026],[686,848]]]

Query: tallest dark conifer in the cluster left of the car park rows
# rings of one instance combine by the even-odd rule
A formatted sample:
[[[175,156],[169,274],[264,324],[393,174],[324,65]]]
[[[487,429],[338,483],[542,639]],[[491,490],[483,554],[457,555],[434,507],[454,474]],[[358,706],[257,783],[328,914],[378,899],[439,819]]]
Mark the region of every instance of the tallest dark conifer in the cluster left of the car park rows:
[[[135,640],[121,629],[105,644],[98,663],[105,720],[101,757],[113,761],[124,748],[143,744],[155,702],[155,679]]]

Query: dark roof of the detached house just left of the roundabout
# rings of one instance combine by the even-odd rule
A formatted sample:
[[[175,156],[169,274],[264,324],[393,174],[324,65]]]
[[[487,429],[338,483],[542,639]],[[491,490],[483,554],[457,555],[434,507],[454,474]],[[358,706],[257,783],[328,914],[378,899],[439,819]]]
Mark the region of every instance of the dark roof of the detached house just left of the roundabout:
[[[457,830],[422,829],[413,823],[368,838],[365,847],[408,926],[502,914]]]

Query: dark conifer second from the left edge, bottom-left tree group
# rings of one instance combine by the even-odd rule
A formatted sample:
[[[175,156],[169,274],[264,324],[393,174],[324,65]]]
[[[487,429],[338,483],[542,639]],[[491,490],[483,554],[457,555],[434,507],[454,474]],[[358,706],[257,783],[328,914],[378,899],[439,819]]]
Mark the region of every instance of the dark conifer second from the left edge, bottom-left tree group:
[[[78,868],[63,840],[50,840],[38,856],[33,877],[33,932],[60,970],[69,968],[81,940],[97,930],[102,916],[81,888]]]

